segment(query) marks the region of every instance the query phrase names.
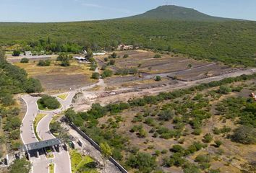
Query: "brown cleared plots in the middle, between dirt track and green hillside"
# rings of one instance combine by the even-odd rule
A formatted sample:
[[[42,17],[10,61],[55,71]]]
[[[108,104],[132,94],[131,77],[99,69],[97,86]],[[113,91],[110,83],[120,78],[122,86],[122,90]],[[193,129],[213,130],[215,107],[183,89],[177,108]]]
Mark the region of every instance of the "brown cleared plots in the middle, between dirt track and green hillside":
[[[155,53],[146,50],[127,50],[116,52],[120,58],[114,58],[115,65],[108,66],[113,71],[124,68],[137,68],[139,74],[142,74],[142,78],[139,75],[129,76],[112,76],[106,79],[106,83],[111,86],[130,86],[133,81],[144,81],[143,85],[154,82],[150,79],[154,79],[155,76],[162,76],[166,79],[164,84],[173,84],[175,80],[182,81],[194,81],[197,79],[204,79],[210,76],[218,76],[226,73],[234,72],[239,68],[231,68],[220,63],[212,63],[207,61],[196,61],[192,58],[187,58],[179,54],[163,54],[161,58],[153,58]],[[128,58],[123,58],[127,54]],[[99,66],[106,65],[108,62],[104,62],[106,56],[98,56]],[[110,61],[111,58],[108,58]],[[132,86],[147,88],[148,86],[140,86],[138,82],[133,83]]]

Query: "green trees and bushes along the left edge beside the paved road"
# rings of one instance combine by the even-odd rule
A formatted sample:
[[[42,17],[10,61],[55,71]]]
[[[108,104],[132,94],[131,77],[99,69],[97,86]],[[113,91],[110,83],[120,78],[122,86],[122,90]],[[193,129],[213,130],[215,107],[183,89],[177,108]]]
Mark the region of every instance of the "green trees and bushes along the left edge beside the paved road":
[[[0,156],[12,154],[22,145],[20,125],[25,113],[20,110],[22,101],[14,99],[14,94],[41,91],[40,81],[29,78],[25,70],[8,63],[4,51],[0,49]],[[16,164],[23,163],[17,161]]]

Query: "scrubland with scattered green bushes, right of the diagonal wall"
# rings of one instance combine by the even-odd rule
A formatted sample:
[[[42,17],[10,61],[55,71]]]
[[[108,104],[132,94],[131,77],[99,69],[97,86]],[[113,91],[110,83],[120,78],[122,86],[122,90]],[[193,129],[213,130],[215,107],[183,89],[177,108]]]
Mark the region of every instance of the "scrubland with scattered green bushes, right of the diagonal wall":
[[[93,104],[88,112],[69,109],[65,116],[101,147],[111,148],[106,153],[129,172],[220,172],[234,169],[233,159],[221,159],[229,154],[249,167],[249,160],[242,161],[244,149],[229,152],[232,142],[255,144],[255,101],[249,92],[229,95],[239,95],[243,87],[255,91],[254,82],[255,74],[242,75],[104,107]],[[226,166],[216,169],[213,158]]]

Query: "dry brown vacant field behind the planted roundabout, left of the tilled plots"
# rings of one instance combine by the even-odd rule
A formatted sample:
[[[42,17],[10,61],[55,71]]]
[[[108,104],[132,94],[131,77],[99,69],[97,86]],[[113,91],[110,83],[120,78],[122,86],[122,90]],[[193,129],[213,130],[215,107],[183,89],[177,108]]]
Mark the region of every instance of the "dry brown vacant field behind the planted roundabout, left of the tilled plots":
[[[66,92],[93,83],[92,71],[85,63],[72,61],[71,66],[62,67],[51,63],[51,66],[38,66],[37,63],[14,63],[27,71],[29,76],[39,79],[45,92]]]

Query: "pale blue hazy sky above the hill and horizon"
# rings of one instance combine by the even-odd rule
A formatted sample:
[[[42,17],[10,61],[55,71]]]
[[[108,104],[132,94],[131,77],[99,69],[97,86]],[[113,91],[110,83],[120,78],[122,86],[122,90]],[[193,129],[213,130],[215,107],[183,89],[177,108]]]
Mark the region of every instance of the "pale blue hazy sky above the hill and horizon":
[[[0,0],[0,22],[64,22],[141,14],[163,0]],[[218,17],[256,20],[256,0],[172,0]]]

